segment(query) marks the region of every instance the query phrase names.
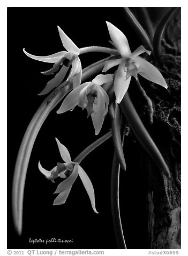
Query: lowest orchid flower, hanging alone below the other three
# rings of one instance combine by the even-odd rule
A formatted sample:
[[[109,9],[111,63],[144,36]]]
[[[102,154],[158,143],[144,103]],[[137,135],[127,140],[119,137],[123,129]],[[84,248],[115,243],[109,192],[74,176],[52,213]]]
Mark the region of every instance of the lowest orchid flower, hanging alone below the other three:
[[[91,180],[89,179],[88,175],[86,174],[84,169],[82,169],[82,167],[79,165],[78,162],[71,161],[69,151],[63,144],[59,142],[57,138],[56,138],[56,142],[57,142],[61,157],[65,163],[63,164],[61,163],[59,165],[61,166],[60,168],[57,165],[57,167],[54,167],[52,170],[48,171],[44,169],[39,162],[39,170],[42,174],[44,174],[47,177],[47,179],[49,179],[50,177],[55,179],[58,176],[62,178],[66,178],[66,172],[69,171],[70,173],[70,176],[67,177],[66,180],[58,184],[55,194],[59,194],[59,195],[55,198],[54,205],[60,205],[66,202],[66,199],[69,196],[72,185],[74,181],[76,181],[79,175],[87,191],[89,199],[91,201],[92,208],[96,212],[96,214],[98,214],[99,212],[97,212],[95,208],[95,194],[94,194],[94,189],[93,189]]]

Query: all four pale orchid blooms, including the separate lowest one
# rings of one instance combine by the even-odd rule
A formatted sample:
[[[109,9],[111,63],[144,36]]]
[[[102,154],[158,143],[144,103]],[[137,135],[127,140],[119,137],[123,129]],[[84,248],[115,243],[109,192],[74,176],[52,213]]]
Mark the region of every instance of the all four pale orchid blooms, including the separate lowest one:
[[[51,69],[42,72],[43,75],[55,74],[55,76],[47,83],[47,86],[42,90],[40,95],[49,93],[52,89],[58,87],[64,81],[65,77],[67,77],[67,81],[73,82],[73,90],[64,98],[57,113],[73,110],[77,105],[82,109],[86,109],[87,116],[91,116],[92,118],[95,134],[99,134],[101,131],[104,117],[108,113],[110,100],[106,88],[114,89],[116,103],[118,104],[121,103],[129,88],[131,76],[137,80],[139,74],[145,79],[167,88],[167,83],[159,70],[139,56],[142,53],[151,54],[151,52],[147,51],[144,46],[139,46],[133,53],[131,53],[129,42],[123,32],[109,22],[107,22],[107,27],[110,38],[117,48],[118,53],[121,55],[121,58],[115,56],[115,58],[107,60],[104,63],[102,72],[106,73],[112,67],[118,66],[117,72],[115,74],[97,75],[92,81],[82,84],[82,68],[78,57],[80,49],[69,37],[67,37],[60,27],[58,27],[58,32],[62,44],[67,51],[58,52],[48,56],[35,56],[27,53],[24,49],[24,53],[34,60],[54,63],[54,66]],[[54,182],[54,179],[57,177],[65,179],[58,185],[55,191],[55,193],[58,193],[59,195],[56,197],[54,204],[58,205],[65,203],[72,185],[79,175],[91,200],[93,210],[97,213],[95,208],[94,189],[91,180],[89,180],[89,177],[79,163],[71,161],[67,148],[59,143],[57,139],[56,141],[64,163],[57,163],[57,166],[48,171],[44,169],[39,162],[39,169],[48,180]]]

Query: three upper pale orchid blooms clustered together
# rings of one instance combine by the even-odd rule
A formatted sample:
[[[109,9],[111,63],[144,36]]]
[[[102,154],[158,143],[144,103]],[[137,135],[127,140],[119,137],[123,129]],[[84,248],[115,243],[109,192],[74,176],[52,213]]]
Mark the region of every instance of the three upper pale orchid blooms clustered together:
[[[67,52],[62,51],[48,56],[35,56],[27,53],[24,49],[24,53],[34,60],[55,63],[51,69],[42,72],[42,74],[52,75],[58,71],[55,77],[47,83],[47,86],[42,90],[40,95],[47,94],[52,89],[59,86],[71,66],[67,80],[73,81],[73,91],[64,99],[57,113],[72,110],[76,105],[80,106],[82,109],[87,109],[88,116],[92,117],[95,134],[99,134],[104,117],[108,112],[109,97],[102,88],[103,84],[114,84],[114,93],[117,103],[121,103],[126,94],[131,76],[138,79],[139,74],[145,79],[167,88],[167,83],[159,70],[150,62],[139,56],[142,53],[151,54],[151,52],[147,51],[144,46],[139,46],[131,53],[129,42],[123,32],[109,22],[107,22],[107,27],[111,40],[122,58],[107,60],[104,63],[102,71],[107,72],[110,68],[118,66],[114,77],[111,74],[98,75],[91,82],[80,84],[82,75],[81,62],[78,57],[80,50],[59,26],[58,32]]]

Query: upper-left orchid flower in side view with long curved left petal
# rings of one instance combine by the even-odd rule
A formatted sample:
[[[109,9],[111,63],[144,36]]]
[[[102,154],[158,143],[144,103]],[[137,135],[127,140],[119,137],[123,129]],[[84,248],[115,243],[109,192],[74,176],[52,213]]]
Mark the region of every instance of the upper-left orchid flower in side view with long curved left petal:
[[[41,72],[43,75],[52,75],[58,71],[60,66],[62,66],[59,72],[55,75],[53,79],[51,79],[47,83],[47,86],[41,91],[39,95],[47,94],[49,93],[49,91],[59,86],[59,84],[62,83],[70,65],[72,65],[72,68],[69,76],[67,77],[67,80],[73,79],[73,88],[76,88],[77,86],[79,86],[81,82],[81,75],[82,75],[81,62],[80,62],[80,59],[78,58],[80,50],[73,43],[73,41],[69,37],[67,37],[67,35],[63,32],[63,30],[59,26],[57,26],[57,28],[59,31],[60,38],[62,40],[62,44],[67,50],[67,52],[62,51],[62,52],[57,52],[48,56],[35,56],[30,53],[27,53],[25,49],[23,49],[24,53],[29,58],[43,61],[43,62],[48,62],[48,63],[55,63],[51,69],[47,70],[46,72]]]

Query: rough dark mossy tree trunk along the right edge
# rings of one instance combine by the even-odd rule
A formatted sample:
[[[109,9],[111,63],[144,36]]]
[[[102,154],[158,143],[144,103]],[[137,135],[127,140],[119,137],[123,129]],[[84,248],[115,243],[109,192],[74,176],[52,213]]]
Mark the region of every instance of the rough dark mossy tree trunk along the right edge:
[[[140,99],[140,90],[130,92],[132,101],[147,130],[159,147],[169,166],[171,179],[167,179],[140,147],[139,165],[145,171],[146,209],[148,211],[148,241],[151,248],[181,248],[181,10],[177,10],[168,24],[162,40],[162,63],[158,67],[168,84],[168,91],[156,84],[141,80],[141,86],[153,103]],[[133,91],[134,90],[134,91]],[[138,90],[138,91],[137,91]],[[138,98],[137,95],[138,94]],[[132,132],[129,141],[136,140]],[[126,149],[125,149],[126,151]],[[132,152],[134,154],[134,152]]]

